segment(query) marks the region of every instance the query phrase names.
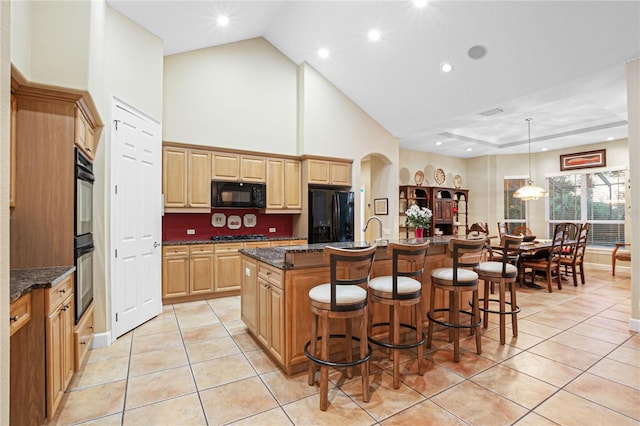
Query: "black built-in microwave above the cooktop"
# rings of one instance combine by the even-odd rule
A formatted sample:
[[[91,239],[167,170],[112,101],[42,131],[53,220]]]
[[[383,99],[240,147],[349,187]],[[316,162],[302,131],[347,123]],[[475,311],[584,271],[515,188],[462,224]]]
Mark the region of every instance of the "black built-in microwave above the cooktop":
[[[211,182],[211,207],[265,208],[264,183]]]

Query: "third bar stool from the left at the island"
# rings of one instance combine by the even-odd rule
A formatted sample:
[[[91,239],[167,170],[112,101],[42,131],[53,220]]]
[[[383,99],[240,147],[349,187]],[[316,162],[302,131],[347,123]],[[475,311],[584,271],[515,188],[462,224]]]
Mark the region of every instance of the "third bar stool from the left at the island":
[[[478,266],[482,251],[485,246],[485,239],[463,240],[452,238],[449,241],[449,251],[453,257],[451,268],[437,268],[431,272],[431,297],[429,300],[429,327],[427,332],[427,348],[431,347],[433,338],[433,324],[451,327],[449,341],[453,339],[453,360],[460,361],[460,329],[468,328],[471,332],[482,325],[480,311],[478,310],[478,274],[470,269]],[[449,293],[449,307],[435,308],[436,289]],[[460,309],[460,295],[465,291],[473,292],[473,306],[471,311]],[[447,312],[446,321],[436,319],[437,312]],[[460,314],[470,316],[468,324],[460,322]],[[476,335],[476,348],[478,355],[482,353],[482,343],[480,333]]]

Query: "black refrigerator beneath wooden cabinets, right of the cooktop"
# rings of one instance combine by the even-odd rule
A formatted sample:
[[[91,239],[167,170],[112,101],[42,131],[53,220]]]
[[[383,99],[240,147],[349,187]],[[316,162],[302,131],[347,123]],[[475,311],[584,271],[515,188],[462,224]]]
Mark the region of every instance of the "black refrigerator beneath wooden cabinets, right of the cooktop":
[[[309,244],[353,241],[353,192],[309,190]]]

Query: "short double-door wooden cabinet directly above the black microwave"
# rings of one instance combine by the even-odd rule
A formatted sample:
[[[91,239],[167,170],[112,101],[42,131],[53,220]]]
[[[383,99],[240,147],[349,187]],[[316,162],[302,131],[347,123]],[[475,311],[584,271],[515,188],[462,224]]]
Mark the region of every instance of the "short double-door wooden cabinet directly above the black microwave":
[[[211,179],[264,183],[267,180],[265,157],[229,152],[211,153]]]

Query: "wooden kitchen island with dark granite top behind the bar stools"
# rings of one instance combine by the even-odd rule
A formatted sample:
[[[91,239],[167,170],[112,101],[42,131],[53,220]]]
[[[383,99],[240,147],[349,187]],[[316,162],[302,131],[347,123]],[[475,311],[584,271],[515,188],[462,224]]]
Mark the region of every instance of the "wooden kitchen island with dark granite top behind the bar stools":
[[[452,236],[429,238],[427,260],[422,277],[422,307],[427,312],[431,271],[450,264],[447,245]],[[425,239],[426,240],[426,239]],[[422,239],[393,240],[400,243],[421,243]],[[387,255],[389,240],[378,242],[371,278],[391,275],[391,258]],[[307,367],[304,345],[311,330],[309,290],[330,281],[329,265],[322,253],[326,245],[343,248],[368,247],[368,242],[303,244],[288,247],[241,250],[242,254],[242,320],[263,349],[287,374]],[[436,307],[445,307],[444,294],[436,293]],[[463,301],[464,302],[464,301]],[[385,322],[387,311],[377,306],[374,322]],[[426,316],[424,318],[426,321]],[[409,322],[409,315],[402,322]],[[382,327],[384,329],[384,327]],[[340,333],[341,330],[332,330]],[[383,331],[381,331],[383,332]]]

